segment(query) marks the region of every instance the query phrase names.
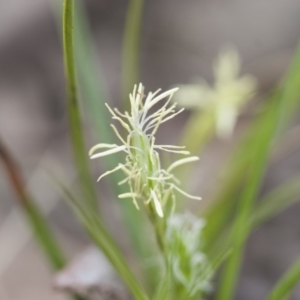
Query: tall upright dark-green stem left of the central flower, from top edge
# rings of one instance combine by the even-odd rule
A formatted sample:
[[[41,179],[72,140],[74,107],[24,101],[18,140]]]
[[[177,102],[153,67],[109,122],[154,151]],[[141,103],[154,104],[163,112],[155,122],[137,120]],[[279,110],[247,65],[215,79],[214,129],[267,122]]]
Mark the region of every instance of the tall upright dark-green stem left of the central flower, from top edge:
[[[74,2],[73,0],[65,0],[63,9],[63,43],[65,72],[67,78],[67,109],[71,142],[83,194],[88,201],[89,207],[91,209],[95,209],[97,207],[97,196],[89,174],[87,151],[84,145],[84,136],[78,103],[74,58],[73,18]]]

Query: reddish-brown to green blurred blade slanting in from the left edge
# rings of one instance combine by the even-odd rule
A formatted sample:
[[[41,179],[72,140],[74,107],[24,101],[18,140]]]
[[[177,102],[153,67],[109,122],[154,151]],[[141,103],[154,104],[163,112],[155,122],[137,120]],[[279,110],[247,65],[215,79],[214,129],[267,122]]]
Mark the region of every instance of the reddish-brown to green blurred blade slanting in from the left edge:
[[[25,211],[26,217],[34,231],[36,241],[45,253],[49,264],[53,269],[59,270],[65,265],[65,257],[59,243],[48,225],[46,219],[35,205],[33,199],[26,191],[25,185],[19,174],[15,160],[5,149],[0,141],[0,159],[8,175],[13,189],[15,190],[19,203]]]

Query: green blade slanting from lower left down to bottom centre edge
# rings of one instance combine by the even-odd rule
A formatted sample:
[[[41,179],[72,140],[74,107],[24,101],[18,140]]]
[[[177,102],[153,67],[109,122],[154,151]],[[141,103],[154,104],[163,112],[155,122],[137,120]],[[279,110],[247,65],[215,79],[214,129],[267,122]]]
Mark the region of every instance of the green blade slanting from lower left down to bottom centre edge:
[[[54,178],[54,180],[70,203],[82,225],[89,233],[95,245],[106,255],[124,284],[132,292],[135,299],[148,300],[146,292],[132,273],[122,253],[106,231],[97,214],[91,210],[87,210],[80,201],[75,199],[72,192],[67,187],[57,181],[57,178]]]

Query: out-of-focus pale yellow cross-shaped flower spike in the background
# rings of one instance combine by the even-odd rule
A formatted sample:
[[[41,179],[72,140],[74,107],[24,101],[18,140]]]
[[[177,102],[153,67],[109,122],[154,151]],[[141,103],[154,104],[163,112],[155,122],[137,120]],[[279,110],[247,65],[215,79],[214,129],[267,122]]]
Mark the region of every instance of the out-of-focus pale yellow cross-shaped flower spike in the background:
[[[239,54],[227,47],[214,65],[214,86],[202,79],[195,84],[182,85],[174,101],[180,106],[212,114],[218,136],[229,137],[241,108],[256,90],[255,78],[250,75],[239,77],[239,72]]]

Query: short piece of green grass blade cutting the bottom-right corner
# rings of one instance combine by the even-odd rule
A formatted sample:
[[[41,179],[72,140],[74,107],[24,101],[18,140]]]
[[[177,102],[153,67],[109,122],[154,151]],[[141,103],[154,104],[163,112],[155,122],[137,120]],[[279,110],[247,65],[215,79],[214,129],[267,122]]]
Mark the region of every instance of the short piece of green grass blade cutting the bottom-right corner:
[[[278,281],[271,293],[265,300],[289,299],[290,293],[300,281],[300,258],[290,267],[290,269]]]

